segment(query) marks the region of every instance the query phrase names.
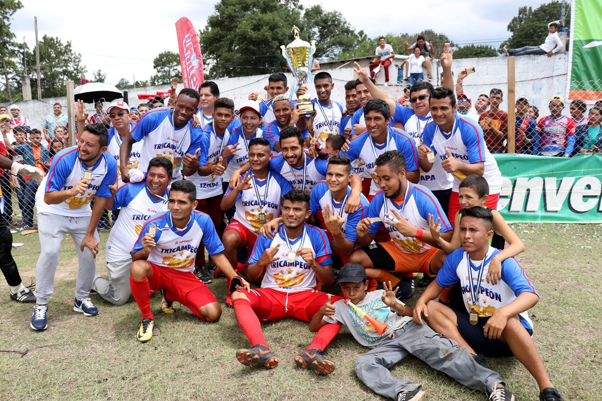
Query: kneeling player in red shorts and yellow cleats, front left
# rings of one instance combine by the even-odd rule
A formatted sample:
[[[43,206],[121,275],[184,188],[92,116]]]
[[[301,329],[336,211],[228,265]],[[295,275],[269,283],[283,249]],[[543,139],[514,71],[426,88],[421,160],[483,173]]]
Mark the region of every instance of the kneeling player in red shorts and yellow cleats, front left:
[[[211,218],[196,207],[196,189],[188,181],[176,181],[169,193],[169,211],[147,220],[132,249],[129,285],[142,311],[138,341],[152,338],[154,317],[151,312],[151,293],[166,290],[166,298],[180,302],[206,322],[217,322],[222,308],[211,290],[194,275],[194,257],[202,241],[209,256],[224,274],[232,279],[234,269],[223,254]],[[249,289],[249,284],[237,277]]]

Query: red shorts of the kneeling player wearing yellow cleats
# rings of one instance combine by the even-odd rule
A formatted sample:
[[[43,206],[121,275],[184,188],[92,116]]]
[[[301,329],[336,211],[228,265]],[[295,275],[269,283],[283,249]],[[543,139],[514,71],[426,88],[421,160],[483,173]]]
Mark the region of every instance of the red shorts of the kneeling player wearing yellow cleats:
[[[194,313],[206,304],[217,302],[213,292],[194,273],[149,263],[152,267],[152,276],[149,278],[151,293],[166,290],[165,296],[169,301],[179,302]]]

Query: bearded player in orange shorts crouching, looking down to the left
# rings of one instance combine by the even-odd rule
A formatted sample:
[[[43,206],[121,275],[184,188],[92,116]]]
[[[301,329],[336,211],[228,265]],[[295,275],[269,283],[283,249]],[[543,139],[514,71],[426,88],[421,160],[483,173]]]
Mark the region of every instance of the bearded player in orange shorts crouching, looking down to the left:
[[[359,221],[358,248],[349,261],[367,269],[368,277],[393,286],[400,286],[399,296],[410,298],[411,284],[399,281],[392,272],[414,272],[436,275],[430,260],[438,251],[429,231],[429,214],[438,216],[445,231],[441,235],[452,238],[452,227],[435,195],[424,186],[413,184],[406,178],[406,163],[398,150],[389,150],[376,159],[376,176],[380,192],[374,195],[368,207],[367,218]],[[389,242],[372,243],[380,227],[386,224],[391,236]],[[409,280],[412,283],[412,279]]]

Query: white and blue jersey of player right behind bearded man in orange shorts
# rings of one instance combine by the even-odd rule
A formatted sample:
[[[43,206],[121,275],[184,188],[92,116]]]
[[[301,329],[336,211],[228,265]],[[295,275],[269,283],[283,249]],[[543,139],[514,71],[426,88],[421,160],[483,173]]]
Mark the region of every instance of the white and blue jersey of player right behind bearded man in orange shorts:
[[[418,151],[414,139],[402,130],[391,127],[388,127],[387,130],[386,140],[383,144],[375,144],[370,133],[364,132],[350,142],[347,152],[340,153],[347,156],[351,161],[359,160],[359,167],[363,167],[364,173],[372,177],[370,195],[380,191],[378,177],[376,176],[376,158],[386,151],[399,150],[406,161],[406,171],[418,170]]]

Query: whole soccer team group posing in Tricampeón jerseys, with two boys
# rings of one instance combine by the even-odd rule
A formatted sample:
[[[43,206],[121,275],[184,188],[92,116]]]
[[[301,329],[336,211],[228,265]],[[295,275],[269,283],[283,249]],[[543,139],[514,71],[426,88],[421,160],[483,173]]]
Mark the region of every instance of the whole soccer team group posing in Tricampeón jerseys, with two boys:
[[[441,65],[449,80],[449,52]],[[390,399],[424,395],[388,370],[412,354],[491,400],[514,396],[485,357],[514,355],[540,400],[561,400],[531,337],[527,311],[539,295],[514,259],[523,243],[495,210],[500,171],[479,125],[456,114],[453,82],[417,82],[407,108],[357,65],[356,74],[345,108],[330,99],[330,75],[315,75],[309,114],[289,100],[282,73],[268,78],[267,100],[252,93],[236,112],[214,82],[182,89],[175,107],[137,124],[113,102],[108,131],[86,125],[78,105],[78,144],[55,155],[36,195],[42,253],[31,328],[48,326],[67,233],[79,259],[75,311],[98,314],[92,289],[116,305],[133,295],[141,342],[152,338],[155,292],[163,313],[179,302],[217,322],[222,307],[195,274],[206,248],[216,277],[228,278],[226,304],[249,340],[236,358],[246,366],[277,366],[260,322],[292,317],[315,332],[298,366],[331,373],[323,351],[346,325],[370,348],[355,361],[358,378]],[[108,278],[95,260],[105,209],[117,215]],[[411,308],[402,299],[417,272],[427,286]],[[320,291],[332,284],[340,293]]]

